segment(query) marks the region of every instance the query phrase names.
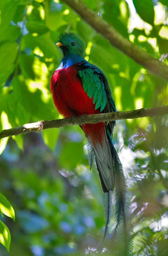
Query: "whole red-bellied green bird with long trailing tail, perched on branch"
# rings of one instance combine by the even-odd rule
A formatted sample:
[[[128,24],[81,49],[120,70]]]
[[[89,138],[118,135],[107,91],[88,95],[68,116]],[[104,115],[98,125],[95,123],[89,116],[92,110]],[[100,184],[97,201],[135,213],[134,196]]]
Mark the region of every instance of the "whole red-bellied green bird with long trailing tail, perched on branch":
[[[84,59],[86,44],[73,32],[63,32],[56,44],[63,53],[58,68],[50,80],[50,91],[58,112],[66,117],[115,112],[108,80],[100,68]],[[112,142],[115,121],[82,124],[88,140],[90,170],[96,163],[103,190],[105,231],[111,218],[112,199],[115,201],[113,241],[121,236],[122,255],[131,255],[130,202],[122,164]]]

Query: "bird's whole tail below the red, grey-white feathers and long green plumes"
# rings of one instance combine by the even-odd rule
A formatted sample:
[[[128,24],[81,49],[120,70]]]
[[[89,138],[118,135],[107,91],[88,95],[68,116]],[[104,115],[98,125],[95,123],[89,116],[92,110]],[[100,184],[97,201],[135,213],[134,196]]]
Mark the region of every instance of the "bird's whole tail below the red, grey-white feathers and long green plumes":
[[[117,256],[130,256],[132,255],[132,226],[128,188],[122,164],[113,145],[108,126],[106,125],[102,146],[96,144],[96,148],[94,148],[94,144],[89,138],[88,159],[90,169],[94,161],[94,156],[101,180],[101,187],[104,192],[103,203],[106,223],[103,241],[110,223],[112,198],[114,194],[116,224],[112,231],[111,250],[114,252],[114,255]],[[114,193],[112,190],[114,190]]]

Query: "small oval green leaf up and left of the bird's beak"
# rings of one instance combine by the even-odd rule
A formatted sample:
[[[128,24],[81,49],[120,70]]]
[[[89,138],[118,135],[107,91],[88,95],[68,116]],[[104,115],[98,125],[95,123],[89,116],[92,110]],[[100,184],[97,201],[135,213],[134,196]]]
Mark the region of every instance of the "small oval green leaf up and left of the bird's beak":
[[[38,33],[39,35],[45,34],[49,29],[46,25],[38,22],[38,21],[27,21],[26,27],[30,33]]]

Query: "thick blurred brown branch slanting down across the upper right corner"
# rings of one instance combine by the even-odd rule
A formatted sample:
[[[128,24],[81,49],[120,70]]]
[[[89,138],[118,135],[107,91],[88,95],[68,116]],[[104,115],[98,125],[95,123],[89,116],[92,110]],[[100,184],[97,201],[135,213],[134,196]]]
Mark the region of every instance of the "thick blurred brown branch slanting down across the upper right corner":
[[[117,49],[128,55],[152,73],[168,80],[168,66],[150,56],[136,44],[123,37],[115,28],[103,20],[97,13],[89,9],[81,0],[62,0],[76,11],[90,26],[106,37]]]

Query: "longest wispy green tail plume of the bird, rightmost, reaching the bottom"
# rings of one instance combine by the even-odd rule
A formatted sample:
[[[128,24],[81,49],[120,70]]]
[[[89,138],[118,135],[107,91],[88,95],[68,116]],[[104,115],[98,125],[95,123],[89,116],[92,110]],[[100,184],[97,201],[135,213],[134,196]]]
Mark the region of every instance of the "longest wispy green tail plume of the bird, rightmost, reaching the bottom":
[[[130,213],[130,200],[122,164],[112,144],[115,173],[115,220],[116,225],[112,232],[113,249],[118,255],[132,255],[132,225]],[[116,248],[116,249],[115,249]]]

